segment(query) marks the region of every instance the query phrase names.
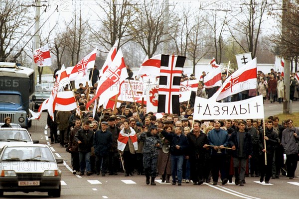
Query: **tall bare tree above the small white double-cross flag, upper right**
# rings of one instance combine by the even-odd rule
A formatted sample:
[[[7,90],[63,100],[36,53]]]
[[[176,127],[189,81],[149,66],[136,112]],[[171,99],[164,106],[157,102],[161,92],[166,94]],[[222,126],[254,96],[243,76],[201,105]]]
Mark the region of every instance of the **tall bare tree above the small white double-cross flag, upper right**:
[[[249,3],[244,1],[241,5],[240,12],[231,14],[234,20],[228,26],[229,31],[243,51],[251,52],[252,58],[255,58],[261,25],[264,21],[264,14],[269,8],[269,3],[267,0],[250,0]],[[245,43],[240,40],[242,36],[246,37]]]

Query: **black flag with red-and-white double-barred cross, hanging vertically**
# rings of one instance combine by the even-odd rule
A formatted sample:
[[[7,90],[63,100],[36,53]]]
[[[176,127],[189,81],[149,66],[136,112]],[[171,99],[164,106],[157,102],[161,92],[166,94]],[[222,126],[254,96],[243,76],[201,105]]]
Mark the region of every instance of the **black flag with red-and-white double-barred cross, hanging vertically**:
[[[179,87],[185,60],[183,56],[161,55],[157,112],[180,114]]]

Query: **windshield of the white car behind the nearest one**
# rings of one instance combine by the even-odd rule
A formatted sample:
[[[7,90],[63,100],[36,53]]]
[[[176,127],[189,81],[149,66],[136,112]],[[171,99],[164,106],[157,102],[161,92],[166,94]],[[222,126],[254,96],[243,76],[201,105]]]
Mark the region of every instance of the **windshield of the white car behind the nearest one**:
[[[16,129],[16,130],[0,129],[0,141],[32,142],[28,132],[22,129]]]

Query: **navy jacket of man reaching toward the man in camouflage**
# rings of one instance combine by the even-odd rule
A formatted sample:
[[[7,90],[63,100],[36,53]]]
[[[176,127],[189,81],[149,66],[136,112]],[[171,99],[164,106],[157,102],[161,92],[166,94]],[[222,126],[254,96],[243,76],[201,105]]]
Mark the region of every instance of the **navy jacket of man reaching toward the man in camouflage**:
[[[188,139],[185,135],[181,134],[179,137],[176,134],[167,133],[162,131],[161,134],[170,141],[170,154],[175,156],[184,155],[188,148]],[[179,149],[175,146],[179,145]]]

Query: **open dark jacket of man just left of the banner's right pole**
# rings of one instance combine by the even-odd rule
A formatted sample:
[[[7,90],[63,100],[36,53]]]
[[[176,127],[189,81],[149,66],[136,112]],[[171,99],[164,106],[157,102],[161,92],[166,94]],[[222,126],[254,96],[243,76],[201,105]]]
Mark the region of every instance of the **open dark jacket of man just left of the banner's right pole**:
[[[249,132],[244,132],[244,144],[243,144],[243,150],[245,153],[245,157],[248,158],[249,155],[252,155],[252,140],[251,140],[251,135]],[[233,132],[231,136],[228,139],[229,143],[231,146],[235,146],[236,150],[233,151],[233,157],[238,157],[239,150],[240,150],[240,139],[239,139],[239,133],[238,132]]]

